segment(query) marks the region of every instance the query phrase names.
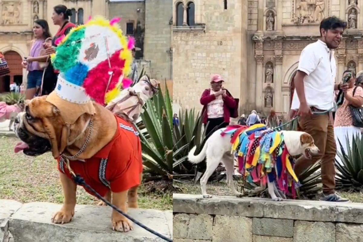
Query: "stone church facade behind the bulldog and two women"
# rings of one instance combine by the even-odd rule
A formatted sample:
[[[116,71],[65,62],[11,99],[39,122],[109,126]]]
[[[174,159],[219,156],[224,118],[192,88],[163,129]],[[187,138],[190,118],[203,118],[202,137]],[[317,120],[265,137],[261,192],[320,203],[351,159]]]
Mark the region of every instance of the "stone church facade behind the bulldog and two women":
[[[89,16],[121,17],[123,33],[136,38],[139,69],[159,80],[172,79],[172,2],[170,0],[0,0],[0,52],[11,69],[0,78],[0,93],[12,82],[25,83],[26,70],[20,66],[33,38],[33,21],[45,19],[54,35],[53,7],[63,4],[72,10],[70,21],[83,24]],[[166,14],[169,12],[169,14]]]

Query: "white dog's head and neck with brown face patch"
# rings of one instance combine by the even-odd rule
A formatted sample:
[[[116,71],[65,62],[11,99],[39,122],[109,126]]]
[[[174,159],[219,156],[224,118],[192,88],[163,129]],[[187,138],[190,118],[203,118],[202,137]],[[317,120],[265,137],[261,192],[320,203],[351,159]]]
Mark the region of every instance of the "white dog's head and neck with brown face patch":
[[[314,144],[311,135],[301,131],[281,131],[284,135],[284,141],[291,156],[303,154],[306,158],[311,159],[312,155],[319,152],[319,148]]]

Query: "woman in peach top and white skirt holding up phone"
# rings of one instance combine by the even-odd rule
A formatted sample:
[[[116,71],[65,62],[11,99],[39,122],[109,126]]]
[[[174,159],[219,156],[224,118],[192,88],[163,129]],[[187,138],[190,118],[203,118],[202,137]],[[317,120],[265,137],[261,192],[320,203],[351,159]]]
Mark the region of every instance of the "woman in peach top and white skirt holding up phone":
[[[348,151],[347,138],[349,144],[352,144],[353,136],[360,137],[361,135],[360,128],[353,126],[353,118],[349,106],[361,107],[363,105],[363,88],[354,85],[355,83],[361,83],[363,81],[363,71],[360,71],[357,75],[357,79],[355,79],[354,72],[346,70],[343,73],[343,78],[349,73],[351,74],[351,78],[348,81],[348,89],[343,91],[343,103],[338,106],[334,120],[334,138],[335,143],[337,144],[337,152],[340,154],[342,154],[341,148],[343,148],[345,152]],[[340,144],[342,144],[342,147],[340,147],[339,141]],[[335,156],[335,159],[341,161],[338,155]]]

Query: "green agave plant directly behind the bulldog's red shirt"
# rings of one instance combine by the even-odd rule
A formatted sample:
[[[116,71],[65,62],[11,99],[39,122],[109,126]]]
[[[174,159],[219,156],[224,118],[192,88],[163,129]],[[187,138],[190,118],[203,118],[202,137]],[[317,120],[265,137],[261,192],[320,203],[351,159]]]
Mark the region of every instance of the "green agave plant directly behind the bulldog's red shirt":
[[[172,106],[168,89],[165,96],[160,90],[148,100],[145,109],[141,114],[142,124],[136,125],[140,133],[144,173],[148,179],[172,179]],[[143,126],[146,132],[141,130]]]

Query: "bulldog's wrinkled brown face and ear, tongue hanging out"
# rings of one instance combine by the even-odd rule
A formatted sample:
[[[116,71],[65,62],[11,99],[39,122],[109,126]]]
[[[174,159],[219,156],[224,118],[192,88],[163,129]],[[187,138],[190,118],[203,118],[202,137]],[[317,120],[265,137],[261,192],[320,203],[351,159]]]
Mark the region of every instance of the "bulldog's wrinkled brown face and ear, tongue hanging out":
[[[45,101],[46,96],[26,101],[25,111],[20,112],[14,125],[16,135],[21,142],[16,144],[15,152],[38,156],[52,151],[58,157],[65,148],[66,126],[59,110]]]

